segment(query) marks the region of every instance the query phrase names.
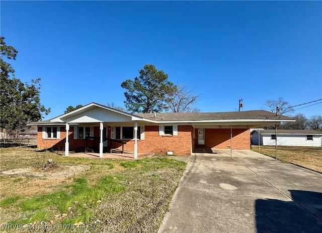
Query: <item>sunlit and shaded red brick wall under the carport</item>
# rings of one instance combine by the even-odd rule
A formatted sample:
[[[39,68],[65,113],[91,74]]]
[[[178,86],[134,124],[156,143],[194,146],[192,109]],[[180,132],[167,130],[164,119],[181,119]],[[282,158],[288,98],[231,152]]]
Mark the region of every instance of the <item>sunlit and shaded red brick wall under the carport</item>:
[[[198,129],[195,129],[198,145]],[[205,129],[205,146],[208,148],[230,148],[230,129]],[[232,149],[249,150],[251,133],[249,129],[232,129]]]

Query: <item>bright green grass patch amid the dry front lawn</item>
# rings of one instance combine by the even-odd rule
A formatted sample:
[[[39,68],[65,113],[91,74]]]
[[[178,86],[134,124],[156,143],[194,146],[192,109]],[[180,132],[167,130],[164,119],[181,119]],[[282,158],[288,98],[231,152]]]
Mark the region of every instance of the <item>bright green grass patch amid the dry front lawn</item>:
[[[33,211],[28,216],[28,219],[33,221],[47,221],[47,217],[43,214],[43,209],[53,206],[60,211],[60,214],[72,210],[71,218],[65,220],[68,223],[70,221],[73,223],[75,223],[74,221],[89,222],[89,219],[94,214],[90,208],[95,207],[97,202],[108,194],[123,192],[125,186],[120,183],[123,180],[122,176],[109,175],[103,177],[93,187],[90,187],[85,178],[76,178],[72,184],[65,186],[66,190],[25,200],[19,207],[22,211]],[[13,202],[10,202],[10,200],[7,200],[7,206]]]

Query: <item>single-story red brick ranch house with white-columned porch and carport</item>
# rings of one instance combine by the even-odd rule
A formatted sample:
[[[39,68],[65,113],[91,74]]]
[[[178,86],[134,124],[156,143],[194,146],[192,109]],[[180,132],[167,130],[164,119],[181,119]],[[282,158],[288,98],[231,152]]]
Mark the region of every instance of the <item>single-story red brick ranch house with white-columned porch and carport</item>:
[[[195,148],[250,149],[250,129],[295,121],[265,110],[233,112],[127,113],[90,103],[36,122],[37,146],[105,152],[124,150],[190,155]]]

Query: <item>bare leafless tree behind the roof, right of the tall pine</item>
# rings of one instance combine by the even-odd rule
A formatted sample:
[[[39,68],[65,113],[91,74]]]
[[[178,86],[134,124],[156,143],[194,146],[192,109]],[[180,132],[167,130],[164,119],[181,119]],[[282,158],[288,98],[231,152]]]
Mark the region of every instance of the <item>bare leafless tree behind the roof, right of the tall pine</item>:
[[[200,109],[194,106],[199,97],[200,95],[195,94],[193,90],[179,85],[172,94],[167,96],[167,102],[172,112],[199,112]]]

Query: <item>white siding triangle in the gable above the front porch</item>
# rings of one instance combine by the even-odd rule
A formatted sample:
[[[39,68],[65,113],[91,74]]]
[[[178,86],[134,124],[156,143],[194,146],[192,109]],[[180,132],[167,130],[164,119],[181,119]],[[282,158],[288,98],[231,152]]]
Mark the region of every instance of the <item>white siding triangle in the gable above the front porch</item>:
[[[132,122],[130,116],[108,109],[93,108],[66,119],[68,123]]]

